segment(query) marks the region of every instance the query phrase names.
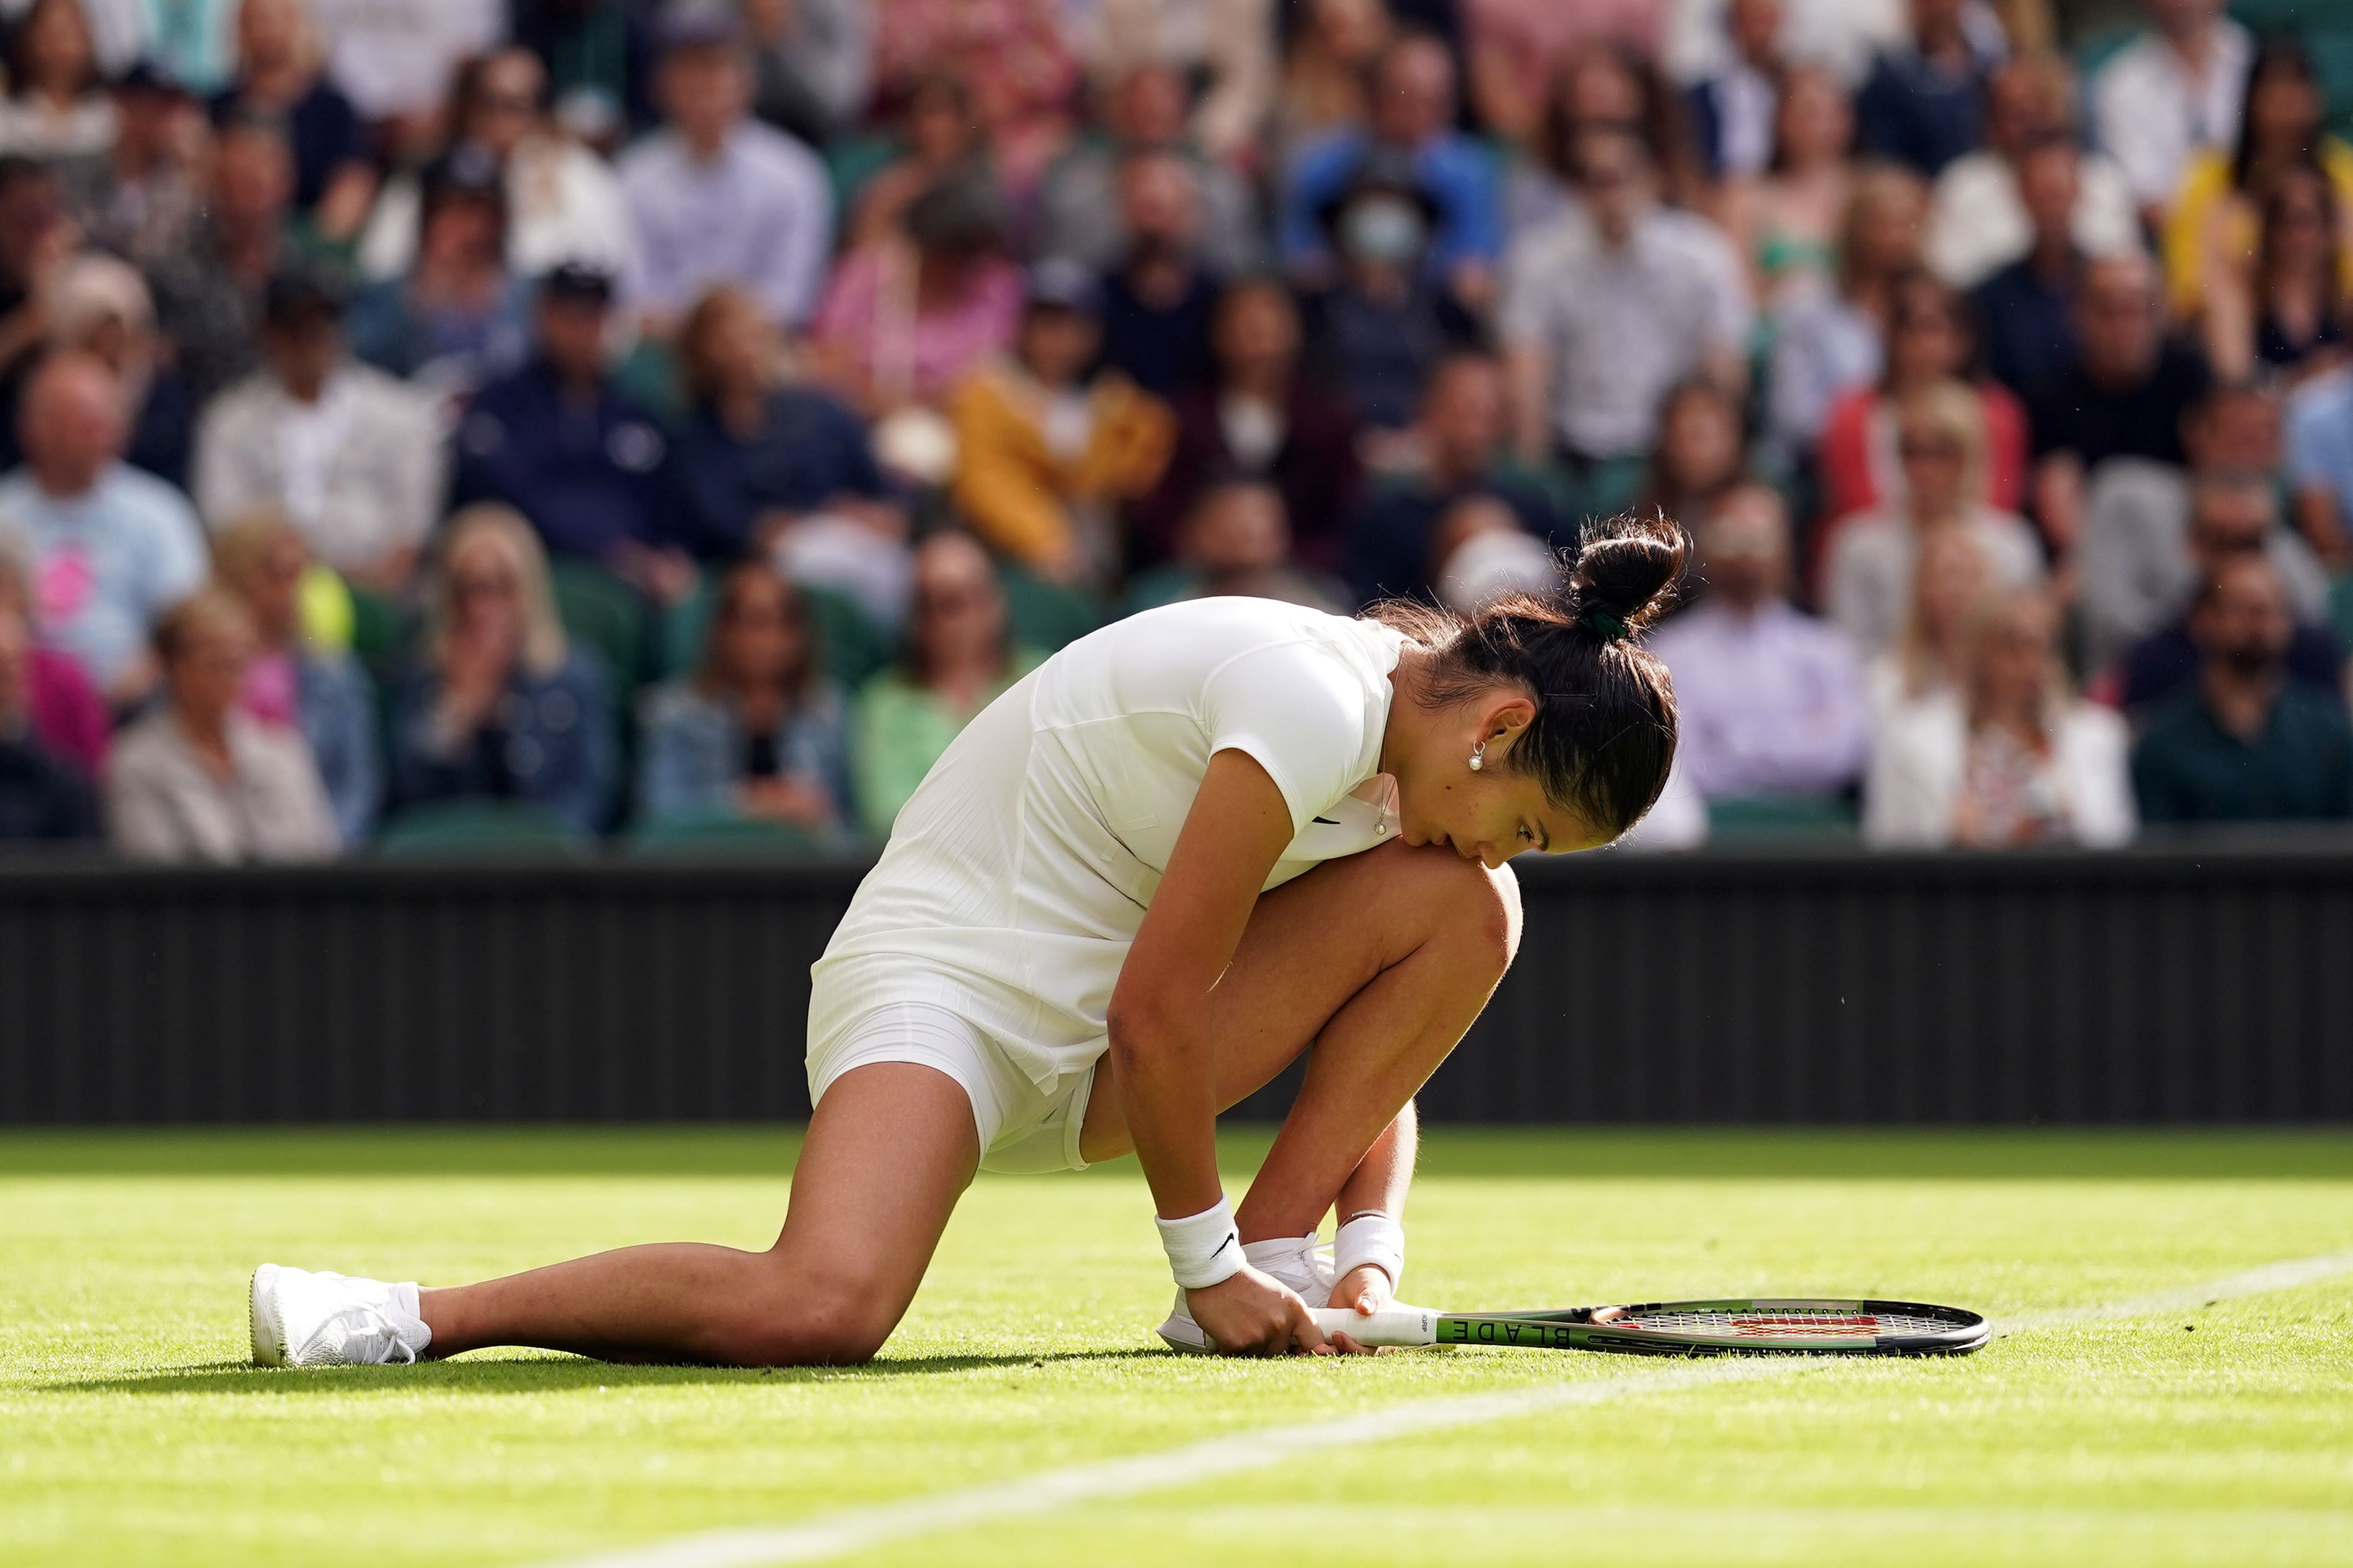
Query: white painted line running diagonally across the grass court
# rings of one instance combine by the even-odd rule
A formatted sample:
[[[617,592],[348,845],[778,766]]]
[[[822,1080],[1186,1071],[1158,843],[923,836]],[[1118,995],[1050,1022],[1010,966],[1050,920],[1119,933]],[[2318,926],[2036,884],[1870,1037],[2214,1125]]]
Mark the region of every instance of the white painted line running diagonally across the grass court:
[[[2353,1253],[2327,1253],[2320,1258],[2287,1258],[2266,1262],[2245,1274],[2209,1279],[2195,1286],[2134,1295],[2101,1307],[2059,1307],[2052,1312],[2024,1312],[1998,1319],[1995,1333],[2019,1333],[2033,1328],[2057,1328],[2064,1324],[2092,1324],[2106,1319],[2162,1316],[2209,1302],[2240,1300],[2271,1291],[2292,1291],[2337,1274],[2353,1274]],[[969,1526],[995,1523],[1000,1519],[1024,1519],[1052,1514],[1073,1502],[1104,1502],[1113,1497],[1136,1497],[1144,1493],[1200,1486],[1219,1476],[1266,1469],[1280,1460],[1304,1453],[1329,1453],[1360,1443],[1386,1443],[1424,1432],[1447,1432],[1454,1427],[1478,1427],[1534,1415],[1539,1410],[1567,1410],[1579,1406],[1638,1399],[1642,1394],[1671,1394],[1675,1389],[1758,1382],[1765,1378],[1791,1378],[1802,1371],[1819,1371],[1828,1359],[1791,1356],[1786,1361],[1704,1361],[1671,1371],[1628,1373],[1602,1382],[1544,1385],[1534,1389],[1506,1389],[1494,1394],[1454,1394],[1445,1399],[1417,1399],[1412,1403],[1341,1415],[1339,1420],[1299,1422],[1294,1427],[1261,1427],[1214,1436],[1205,1443],[1188,1443],[1162,1453],[1139,1453],[1127,1460],[1101,1460],[1096,1465],[1071,1465],[1035,1476],[1007,1476],[984,1481],[953,1493],[929,1497],[901,1497],[868,1507],[821,1514],[793,1526],[758,1526],[741,1530],[708,1530],[680,1535],[649,1547],[631,1547],[598,1556],[567,1559],[551,1568],[769,1568],[772,1563],[819,1563],[852,1552],[866,1552],[896,1540],[939,1535]]]

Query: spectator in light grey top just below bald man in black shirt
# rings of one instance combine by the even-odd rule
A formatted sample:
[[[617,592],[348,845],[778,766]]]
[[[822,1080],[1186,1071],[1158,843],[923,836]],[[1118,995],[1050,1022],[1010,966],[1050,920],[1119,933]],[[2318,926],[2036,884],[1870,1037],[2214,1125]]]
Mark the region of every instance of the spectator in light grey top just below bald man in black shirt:
[[[2252,386],[2219,386],[2184,418],[2188,473],[2111,458],[2085,498],[2082,632],[2089,665],[2181,614],[2198,578],[2228,550],[2264,550],[2299,618],[2322,614],[2327,576],[2311,548],[2278,527],[2280,407]],[[2181,642],[2181,668],[2193,661]],[[2186,677],[2186,675],[2184,675]]]

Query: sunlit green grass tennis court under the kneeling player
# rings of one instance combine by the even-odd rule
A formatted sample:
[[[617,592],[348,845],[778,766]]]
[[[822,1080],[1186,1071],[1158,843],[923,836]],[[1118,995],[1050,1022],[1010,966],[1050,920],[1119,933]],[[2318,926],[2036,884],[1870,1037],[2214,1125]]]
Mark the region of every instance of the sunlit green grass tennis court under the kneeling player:
[[[1226,1138],[1235,1197],[1261,1147]],[[631,1241],[765,1246],[793,1152],[692,1128],[0,1135],[0,1563],[536,1568],[878,1505],[906,1523],[960,1488],[1562,1385],[1595,1387],[798,1561],[2353,1563],[2341,1133],[1426,1143],[1405,1298],[1433,1307],[1854,1293],[2012,1316],[2348,1253],[2294,1288],[1946,1361],[1179,1359],[1151,1338],[1167,1267],[1125,1161],[984,1175],[864,1368],[245,1366],[254,1262],[435,1284]]]

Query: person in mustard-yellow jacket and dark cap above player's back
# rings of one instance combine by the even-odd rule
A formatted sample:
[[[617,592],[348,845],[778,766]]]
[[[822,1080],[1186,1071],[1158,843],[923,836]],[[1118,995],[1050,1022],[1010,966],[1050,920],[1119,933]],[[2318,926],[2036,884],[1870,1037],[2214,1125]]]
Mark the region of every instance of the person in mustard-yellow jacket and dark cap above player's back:
[[[1014,353],[948,397],[955,508],[991,550],[1056,583],[1115,574],[1115,508],[1160,482],[1176,440],[1165,402],[1118,371],[1087,376],[1099,310],[1085,268],[1038,263]]]

